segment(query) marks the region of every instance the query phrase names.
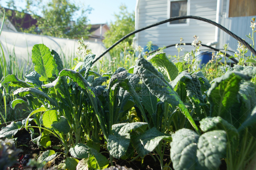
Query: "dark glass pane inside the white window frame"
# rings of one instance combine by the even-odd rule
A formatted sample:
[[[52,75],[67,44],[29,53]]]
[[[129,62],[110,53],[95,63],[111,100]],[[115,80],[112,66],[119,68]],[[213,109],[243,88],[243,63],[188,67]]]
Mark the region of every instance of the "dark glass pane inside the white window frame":
[[[188,1],[171,1],[170,18],[187,15]],[[170,24],[184,24],[187,23],[187,19],[180,19],[171,21]]]

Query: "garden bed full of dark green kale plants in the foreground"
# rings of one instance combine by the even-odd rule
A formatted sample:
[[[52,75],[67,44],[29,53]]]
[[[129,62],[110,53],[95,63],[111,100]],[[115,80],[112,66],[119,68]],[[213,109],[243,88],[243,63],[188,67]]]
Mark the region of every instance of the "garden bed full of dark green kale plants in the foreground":
[[[140,54],[127,70],[99,74],[88,51],[71,70],[36,44],[35,71],[25,81],[8,75],[1,83],[18,87],[13,95],[27,100],[11,107],[22,103],[30,114],[3,127],[0,137],[17,137],[20,163],[37,169],[249,170],[256,158],[256,61],[246,65],[239,44],[238,64],[220,66],[223,53],[213,53],[202,72],[195,51],[186,64],[157,52]]]

